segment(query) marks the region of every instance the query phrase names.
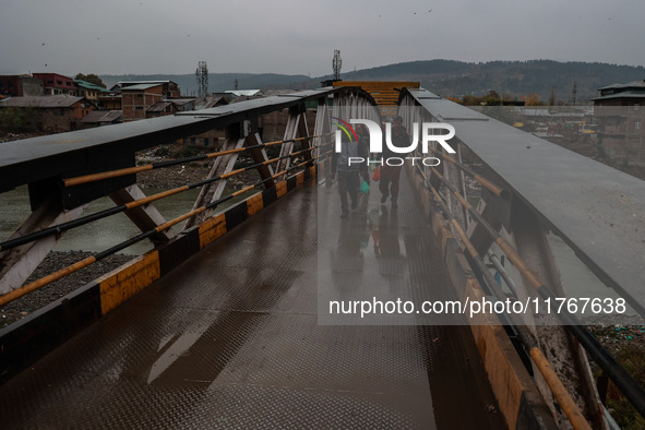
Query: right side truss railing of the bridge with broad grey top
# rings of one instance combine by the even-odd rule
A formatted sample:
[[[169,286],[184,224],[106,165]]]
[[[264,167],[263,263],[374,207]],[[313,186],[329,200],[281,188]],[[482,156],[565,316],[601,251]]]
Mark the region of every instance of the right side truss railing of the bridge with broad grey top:
[[[617,207],[608,206],[601,198],[605,188],[612,192],[620,188],[623,198],[645,206],[642,181],[423,89],[405,91],[399,105],[399,115],[404,116],[410,134],[422,122],[449,123],[455,129],[455,138],[450,142],[456,153],[431,147],[430,152],[441,163],[434,166],[417,163],[414,175],[427,190],[433,212],[446,219],[461,241],[485,294],[500,302],[526,303],[527,308],[535,304],[525,312],[495,313],[522,341],[521,353],[530,356],[533,368],[539,370],[536,383],[553,416],[562,419],[566,415],[574,428],[585,428],[586,421],[595,428],[605,426],[587,358],[571,343],[571,336],[644,415],[643,387],[585,329],[578,310],[584,298],[578,300],[564,294],[548,239],[549,231],[562,237],[607,286],[619,292],[618,299],[612,295],[595,298],[598,303],[607,303],[604,301],[607,299],[618,304],[616,300],[620,300],[622,312],[609,316],[620,319],[629,309],[625,303],[643,315],[642,289],[637,287],[642,284],[638,279],[643,279],[641,253],[624,252],[637,250],[642,244],[637,237],[619,242],[614,235],[597,231],[597,218],[607,217],[601,215],[602,210],[608,210],[609,217],[616,216]],[[428,155],[420,146],[415,154],[419,158]],[[478,171],[466,166],[464,155]],[[585,194],[584,188],[589,183],[594,183],[597,194]],[[576,210],[576,204],[582,207]],[[597,211],[596,219],[589,219],[588,214],[582,216],[588,207]],[[629,224],[621,228],[633,228],[633,210],[625,207],[613,223],[628,219]],[[604,247],[590,247],[595,240]],[[504,270],[495,253],[501,253],[512,266]],[[626,273],[619,273],[616,265],[609,264],[607,255],[613,253],[623,254],[622,270],[626,268]],[[483,260],[486,255],[488,264]],[[564,306],[547,312],[545,303]],[[536,310],[539,304],[542,312]],[[553,380],[563,384],[553,384]]]

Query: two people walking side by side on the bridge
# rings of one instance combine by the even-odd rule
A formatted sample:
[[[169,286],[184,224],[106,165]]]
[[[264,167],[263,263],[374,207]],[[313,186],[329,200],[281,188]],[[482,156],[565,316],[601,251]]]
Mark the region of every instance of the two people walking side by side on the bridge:
[[[331,179],[334,180],[336,175],[338,177],[341,218],[347,218],[349,216],[349,205],[351,205],[351,210],[358,206],[361,179],[368,184],[370,183],[368,160],[372,154],[369,153],[369,132],[363,124],[357,124],[356,135],[356,142],[353,142],[346,135],[342,135],[341,152],[334,152],[332,156]],[[401,117],[394,118],[393,121],[392,144],[397,147],[407,147],[410,144],[407,131],[403,127],[403,118]],[[379,191],[381,192],[381,204],[385,204],[390,198],[392,208],[395,210],[398,207],[398,182],[402,166],[391,166],[387,164],[387,159],[391,157],[401,157],[401,154],[394,153],[383,142],[383,152],[373,154],[372,156],[374,157],[371,159],[372,165],[378,166],[377,168],[380,169]],[[357,158],[362,158],[365,163],[350,163],[350,159],[356,160]]]

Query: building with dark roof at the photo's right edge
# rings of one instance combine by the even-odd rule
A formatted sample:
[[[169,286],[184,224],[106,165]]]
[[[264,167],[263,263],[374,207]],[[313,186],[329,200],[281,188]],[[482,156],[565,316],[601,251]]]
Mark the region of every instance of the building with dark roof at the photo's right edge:
[[[645,81],[611,84],[592,98],[598,145],[623,166],[645,166]]]

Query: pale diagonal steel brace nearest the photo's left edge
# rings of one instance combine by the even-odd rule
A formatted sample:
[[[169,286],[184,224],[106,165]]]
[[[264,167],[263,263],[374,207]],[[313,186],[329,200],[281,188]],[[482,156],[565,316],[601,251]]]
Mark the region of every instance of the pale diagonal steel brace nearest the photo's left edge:
[[[76,219],[85,207],[87,207],[87,204],[71,211],[63,211],[61,202],[50,196],[36,211],[32,212],[9,239]],[[20,288],[32,272],[45,260],[60,238],[61,235],[48,236],[0,253],[0,294],[11,292]]]

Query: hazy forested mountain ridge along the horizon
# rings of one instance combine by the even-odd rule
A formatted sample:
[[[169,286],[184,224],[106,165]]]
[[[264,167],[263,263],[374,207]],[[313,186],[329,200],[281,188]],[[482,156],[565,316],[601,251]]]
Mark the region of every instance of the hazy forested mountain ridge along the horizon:
[[[104,75],[106,84],[127,80],[171,80],[186,95],[196,93],[194,74],[184,75]],[[587,103],[598,95],[598,88],[613,83],[645,80],[645,68],[599,62],[559,62],[552,60],[463,62],[454,60],[409,61],[372,69],[342,73],[346,81],[418,81],[428,91],[442,96],[483,95],[494,89],[500,95],[519,98],[536,93],[548,100],[553,88],[556,98],[573,101],[573,84],[576,84],[576,101]],[[236,80],[240,89],[314,88],[329,79],[310,79],[306,75],[275,73],[212,73],[208,75],[211,92],[232,89]],[[108,84],[110,85],[110,84]],[[111,86],[111,85],[110,85]]]

